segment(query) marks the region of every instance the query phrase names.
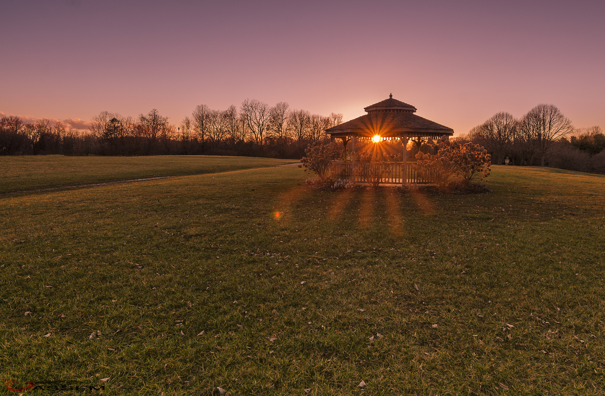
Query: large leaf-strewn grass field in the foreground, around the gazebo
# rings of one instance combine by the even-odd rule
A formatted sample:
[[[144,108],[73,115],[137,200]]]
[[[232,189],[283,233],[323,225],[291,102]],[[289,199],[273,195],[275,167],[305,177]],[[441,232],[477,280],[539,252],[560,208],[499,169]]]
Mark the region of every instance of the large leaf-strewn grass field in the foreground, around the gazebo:
[[[484,195],[323,192],[288,166],[2,196],[0,372],[107,395],[605,394],[605,179],[492,169]]]

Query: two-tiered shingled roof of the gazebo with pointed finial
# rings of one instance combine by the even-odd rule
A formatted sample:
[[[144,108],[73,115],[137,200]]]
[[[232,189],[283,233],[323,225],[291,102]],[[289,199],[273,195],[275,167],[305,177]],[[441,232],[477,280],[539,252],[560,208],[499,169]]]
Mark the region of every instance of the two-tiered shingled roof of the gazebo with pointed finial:
[[[325,133],[331,137],[440,137],[454,134],[453,129],[414,114],[414,106],[393,99],[392,95],[389,99],[367,106],[364,110],[368,114],[326,129]]]

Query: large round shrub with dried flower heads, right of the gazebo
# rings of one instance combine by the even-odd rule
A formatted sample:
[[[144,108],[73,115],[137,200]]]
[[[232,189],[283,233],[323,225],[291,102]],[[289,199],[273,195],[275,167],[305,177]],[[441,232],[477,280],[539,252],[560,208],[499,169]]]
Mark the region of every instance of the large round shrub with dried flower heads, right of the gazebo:
[[[474,178],[483,180],[491,172],[491,155],[479,144],[450,143],[442,138],[435,149],[437,154],[416,154],[414,169],[422,177],[433,178],[441,188],[468,186]]]

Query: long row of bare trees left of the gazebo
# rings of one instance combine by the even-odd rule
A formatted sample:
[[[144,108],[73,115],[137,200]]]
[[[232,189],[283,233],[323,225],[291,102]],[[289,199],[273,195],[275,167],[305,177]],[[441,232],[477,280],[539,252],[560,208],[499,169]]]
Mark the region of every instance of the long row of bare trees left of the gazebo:
[[[246,99],[240,108],[195,107],[180,124],[157,109],[138,117],[102,111],[88,131],[49,120],[27,123],[0,118],[0,155],[245,155],[301,158],[307,144],[325,141],[325,129],[342,123],[342,114],[311,114],[286,102],[269,106]]]

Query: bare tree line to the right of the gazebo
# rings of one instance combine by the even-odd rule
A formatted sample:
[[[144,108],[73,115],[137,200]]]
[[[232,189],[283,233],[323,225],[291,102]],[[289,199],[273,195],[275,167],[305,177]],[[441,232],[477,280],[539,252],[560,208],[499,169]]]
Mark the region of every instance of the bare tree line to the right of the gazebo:
[[[454,138],[485,147],[492,163],[540,165],[605,173],[605,134],[600,126],[575,128],[557,106],[540,104],[523,117],[498,112]]]

